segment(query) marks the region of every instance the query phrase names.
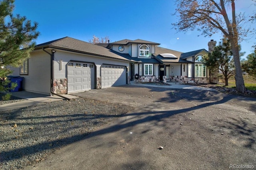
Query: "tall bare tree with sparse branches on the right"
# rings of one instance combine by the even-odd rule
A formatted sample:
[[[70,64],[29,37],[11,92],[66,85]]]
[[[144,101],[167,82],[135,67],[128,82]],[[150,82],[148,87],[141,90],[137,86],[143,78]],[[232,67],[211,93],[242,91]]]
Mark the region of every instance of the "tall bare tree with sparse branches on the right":
[[[248,20],[244,13],[236,14],[235,0],[176,0],[176,5],[175,14],[179,20],[172,24],[175,29],[197,29],[205,36],[221,31],[230,40],[236,67],[236,90],[245,93],[238,43],[250,33],[253,35],[255,29],[244,26]],[[228,8],[231,9],[230,16],[226,10]]]

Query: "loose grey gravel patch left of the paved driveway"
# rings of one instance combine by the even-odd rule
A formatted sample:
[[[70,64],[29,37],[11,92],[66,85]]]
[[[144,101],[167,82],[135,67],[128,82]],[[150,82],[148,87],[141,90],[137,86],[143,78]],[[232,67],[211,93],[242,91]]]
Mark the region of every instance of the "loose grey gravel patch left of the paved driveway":
[[[0,169],[20,169],[43,161],[56,149],[83,139],[133,109],[78,98],[0,112]]]

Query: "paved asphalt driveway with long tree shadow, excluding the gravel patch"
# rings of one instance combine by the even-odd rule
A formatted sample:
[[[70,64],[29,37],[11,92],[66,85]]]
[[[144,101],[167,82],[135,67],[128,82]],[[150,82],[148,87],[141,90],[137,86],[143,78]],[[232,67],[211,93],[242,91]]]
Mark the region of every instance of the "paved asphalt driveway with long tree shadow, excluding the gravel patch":
[[[74,95],[136,109],[26,169],[256,168],[254,98],[129,85]]]

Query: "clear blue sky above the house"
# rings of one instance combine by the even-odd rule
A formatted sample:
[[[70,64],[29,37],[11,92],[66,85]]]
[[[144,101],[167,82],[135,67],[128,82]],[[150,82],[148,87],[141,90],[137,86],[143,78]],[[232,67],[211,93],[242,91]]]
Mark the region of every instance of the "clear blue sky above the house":
[[[171,25],[176,21],[172,16],[174,0],[16,0],[14,4],[14,14],[39,23],[37,44],[66,36],[88,42],[96,35],[108,36],[110,42],[143,39],[188,52],[208,50],[210,39],[218,43],[222,37],[221,33],[212,37],[204,37],[198,31],[177,33]],[[256,10],[251,4],[251,0],[238,0],[236,9],[251,14]],[[252,53],[255,43],[255,36],[241,43],[246,52],[243,58]]]

